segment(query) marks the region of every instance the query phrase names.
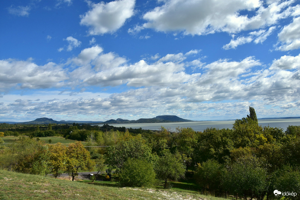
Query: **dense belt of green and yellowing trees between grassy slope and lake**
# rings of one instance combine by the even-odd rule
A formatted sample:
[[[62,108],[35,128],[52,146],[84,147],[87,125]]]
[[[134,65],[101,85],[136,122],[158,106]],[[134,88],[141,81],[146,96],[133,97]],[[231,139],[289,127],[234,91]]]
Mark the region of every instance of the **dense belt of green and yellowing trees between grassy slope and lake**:
[[[1,150],[0,167],[33,174],[51,172],[55,176],[65,171],[74,178],[79,168],[106,163],[116,169],[122,185],[148,187],[160,179],[164,188],[172,187],[170,180],[184,178],[189,170],[194,172],[199,190],[217,196],[275,199],[274,190],[300,195],[300,126],[289,126],[285,132],[262,127],[255,110],[250,107],[249,111],[247,117],[235,121],[232,129],[207,128],[203,132],[191,128],[177,128],[174,132],[162,127],[153,132],[79,124],[48,125],[42,130],[36,126],[29,138],[20,138]],[[87,141],[87,146],[110,147],[84,149],[76,142],[73,150],[68,150],[61,144],[45,145],[31,139],[47,131],[66,139]],[[34,148],[24,150],[26,146]]]

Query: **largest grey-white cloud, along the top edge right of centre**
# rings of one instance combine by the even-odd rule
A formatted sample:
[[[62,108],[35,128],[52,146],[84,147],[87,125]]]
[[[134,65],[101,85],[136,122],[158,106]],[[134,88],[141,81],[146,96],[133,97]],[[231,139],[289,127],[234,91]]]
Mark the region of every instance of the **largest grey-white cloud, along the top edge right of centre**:
[[[271,26],[287,16],[295,14],[297,8],[290,1],[268,1],[265,6],[259,0],[233,1],[163,1],[162,6],[147,12],[144,28],[157,31],[182,31],[184,34],[203,35],[223,31],[237,33]],[[297,6],[296,6],[297,7]],[[254,16],[240,14],[255,12]],[[180,13],[180,14],[179,14]]]

